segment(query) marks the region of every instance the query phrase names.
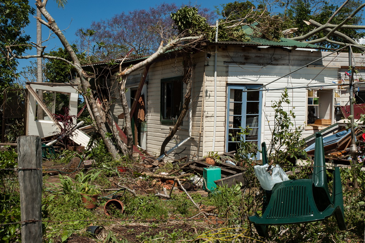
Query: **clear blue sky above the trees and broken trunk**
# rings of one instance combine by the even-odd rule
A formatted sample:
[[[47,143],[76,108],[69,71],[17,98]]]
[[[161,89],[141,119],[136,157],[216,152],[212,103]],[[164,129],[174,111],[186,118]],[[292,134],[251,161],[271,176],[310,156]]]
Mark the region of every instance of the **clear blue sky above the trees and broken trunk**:
[[[30,0],[30,5],[33,5],[34,0]],[[135,9],[148,9],[149,7],[155,7],[164,1],[120,1],[120,0],[108,0],[108,1],[96,1],[96,0],[68,0],[65,8],[58,8],[55,0],[49,0],[47,3],[47,10],[51,16],[55,19],[58,27],[64,30],[64,34],[70,43],[76,40],[76,31],[81,27],[87,28],[91,23],[99,21],[100,19],[108,19],[113,15],[120,12],[128,12]],[[176,3],[177,6],[181,4],[189,4],[189,1],[165,1],[166,3]],[[232,0],[197,0],[191,1],[193,5],[201,5],[202,7],[214,9],[214,6],[220,4],[230,3]],[[35,7],[35,5],[34,5]],[[33,16],[30,16],[31,23],[24,29],[26,34],[32,37],[32,41],[36,42],[36,20]],[[43,40],[49,37],[49,29],[42,27]],[[57,37],[50,39],[44,45],[47,46],[46,51],[57,49],[61,46],[61,42]],[[27,54],[36,54],[36,49],[32,49]],[[19,60],[20,69],[28,64],[30,60]],[[34,61],[34,60],[33,60]],[[19,68],[18,68],[19,70]]]

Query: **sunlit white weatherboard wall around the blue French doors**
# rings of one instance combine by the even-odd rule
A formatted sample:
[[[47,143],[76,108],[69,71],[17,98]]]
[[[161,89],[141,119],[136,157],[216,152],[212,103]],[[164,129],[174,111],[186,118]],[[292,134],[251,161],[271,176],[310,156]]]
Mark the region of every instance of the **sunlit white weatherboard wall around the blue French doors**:
[[[205,67],[204,84],[204,139],[203,155],[212,150],[213,114],[214,114],[214,47],[207,49],[211,53],[209,65]],[[223,47],[218,48],[217,59],[217,125],[215,151],[224,152],[226,143],[226,109],[227,109],[227,84],[268,84],[270,81],[284,76],[304,65],[325,56],[328,52],[311,50],[287,50],[280,48],[250,48],[250,47]],[[358,65],[363,65],[365,59],[360,54],[355,54]],[[205,61],[207,65],[207,61]],[[341,77],[340,68],[348,66],[347,53],[335,53],[323,60],[300,69],[267,86],[270,88],[285,88],[304,85],[320,85],[338,82]],[[322,90],[330,92],[334,87],[323,87]],[[320,88],[318,88],[320,89]],[[271,140],[269,122],[273,123],[274,112],[271,107],[274,100],[278,100],[283,90],[264,91],[262,97],[261,141]],[[348,90],[341,90],[344,99],[348,100]],[[295,126],[304,126],[307,119],[307,89],[288,90],[291,104],[286,109],[293,109],[296,118]],[[333,99],[332,96],[326,99]],[[346,103],[346,102],[345,102]],[[327,112],[327,111],[326,111]],[[332,112],[328,110],[328,112]],[[303,137],[313,134],[318,130],[307,128],[302,133]]]

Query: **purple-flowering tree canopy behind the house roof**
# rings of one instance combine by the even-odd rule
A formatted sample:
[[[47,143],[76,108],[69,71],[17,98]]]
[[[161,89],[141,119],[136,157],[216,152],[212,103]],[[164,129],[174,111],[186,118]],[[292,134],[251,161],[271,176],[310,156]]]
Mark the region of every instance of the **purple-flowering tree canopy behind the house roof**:
[[[162,40],[168,41],[176,35],[170,14],[178,9],[174,3],[162,3],[148,10],[122,12],[110,19],[94,21],[76,33],[78,49],[100,60],[120,58],[131,48],[134,55],[152,54]],[[210,24],[216,18],[215,12],[207,8],[200,8],[199,14]]]

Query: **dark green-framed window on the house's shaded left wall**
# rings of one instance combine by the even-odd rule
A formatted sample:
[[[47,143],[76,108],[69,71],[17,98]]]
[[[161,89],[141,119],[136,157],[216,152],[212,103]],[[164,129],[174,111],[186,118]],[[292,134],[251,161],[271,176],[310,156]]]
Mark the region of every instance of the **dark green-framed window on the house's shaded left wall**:
[[[183,76],[161,79],[161,109],[162,125],[174,125],[183,109]]]

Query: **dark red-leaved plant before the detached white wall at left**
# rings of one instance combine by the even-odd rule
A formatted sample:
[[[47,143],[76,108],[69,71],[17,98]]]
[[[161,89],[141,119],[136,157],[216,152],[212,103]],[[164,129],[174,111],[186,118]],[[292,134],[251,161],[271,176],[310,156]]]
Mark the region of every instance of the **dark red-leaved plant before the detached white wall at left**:
[[[73,146],[74,142],[70,139],[75,133],[72,132],[72,128],[76,125],[76,115],[69,115],[69,107],[63,107],[64,114],[53,114],[54,118],[59,122],[61,126],[58,126],[58,130],[54,131],[55,137],[66,146]],[[75,122],[74,122],[75,121]],[[56,125],[56,124],[55,124]]]

